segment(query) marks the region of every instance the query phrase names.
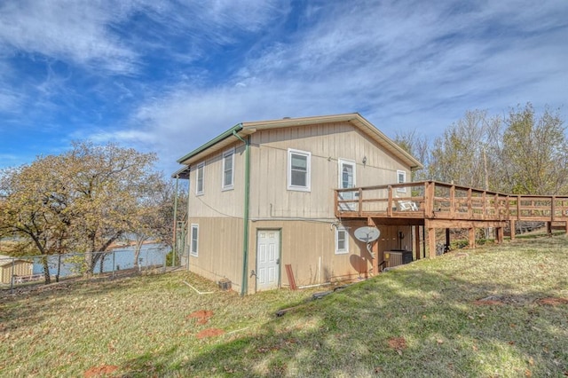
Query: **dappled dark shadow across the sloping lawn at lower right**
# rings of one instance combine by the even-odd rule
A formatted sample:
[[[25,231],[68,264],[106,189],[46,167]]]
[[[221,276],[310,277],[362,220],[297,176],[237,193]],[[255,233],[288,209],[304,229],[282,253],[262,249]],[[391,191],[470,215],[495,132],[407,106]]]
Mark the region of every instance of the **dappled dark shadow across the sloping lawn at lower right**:
[[[526,291],[517,301],[477,302],[516,288],[401,269],[300,303],[259,331],[205,339],[198,350],[179,343],[133,358],[122,371],[247,377],[566,374],[568,305],[541,305],[538,299],[549,294],[539,291]]]

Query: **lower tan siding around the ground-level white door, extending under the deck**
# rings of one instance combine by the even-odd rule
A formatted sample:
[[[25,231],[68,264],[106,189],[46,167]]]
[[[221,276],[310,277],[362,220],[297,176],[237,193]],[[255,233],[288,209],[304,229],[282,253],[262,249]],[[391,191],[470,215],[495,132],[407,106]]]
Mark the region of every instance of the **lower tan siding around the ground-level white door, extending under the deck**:
[[[365,243],[356,240],[353,232],[367,225],[362,221],[343,222],[349,234],[349,253],[335,254],[335,226],[331,223],[305,221],[252,222],[249,237],[248,272],[256,270],[256,230],[280,230],[280,282],[288,287],[285,265],[291,264],[297,286],[307,286],[330,281],[354,280],[366,276],[373,266]],[[409,226],[380,226],[379,261],[383,251],[398,248],[398,231],[405,232],[410,240]],[[408,248],[412,243],[408,241]],[[403,246],[404,247],[404,246]],[[248,293],[256,291],[255,278],[248,279]]]

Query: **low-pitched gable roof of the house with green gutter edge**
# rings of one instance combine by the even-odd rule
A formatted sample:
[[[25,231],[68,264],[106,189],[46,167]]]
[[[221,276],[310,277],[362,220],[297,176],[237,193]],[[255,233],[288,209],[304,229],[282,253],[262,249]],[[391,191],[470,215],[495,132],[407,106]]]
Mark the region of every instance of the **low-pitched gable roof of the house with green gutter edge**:
[[[272,121],[241,122],[234,125],[231,129],[226,130],[224,133],[217,136],[217,138],[213,138],[204,145],[197,147],[191,153],[178,159],[177,162],[191,166],[194,162],[201,161],[205,156],[223,150],[226,146],[238,141],[239,138],[237,138],[236,135],[243,138],[258,130],[280,129],[331,122],[349,122],[367,135],[368,138],[375,140],[379,146],[382,146],[385,150],[389,151],[390,154],[393,154],[401,161],[404,161],[411,169],[423,168],[420,161],[417,161],[414,156],[408,154],[404,149],[394,143],[390,138],[384,135],[381,130],[378,130],[371,122],[368,122],[359,113],[283,118]],[[185,171],[186,168],[179,169],[176,173],[174,173],[174,177],[179,176],[184,178],[183,176]]]

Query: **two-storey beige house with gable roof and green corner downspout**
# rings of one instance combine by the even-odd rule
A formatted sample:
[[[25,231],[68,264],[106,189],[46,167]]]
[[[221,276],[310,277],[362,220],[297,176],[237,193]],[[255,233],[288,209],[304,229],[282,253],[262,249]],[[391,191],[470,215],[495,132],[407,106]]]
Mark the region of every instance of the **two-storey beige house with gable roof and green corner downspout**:
[[[243,295],[375,273],[354,237],[367,222],[335,217],[335,189],[404,183],[422,168],[356,113],[242,122],[178,162],[175,177],[189,179],[183,264]],[[413,248],[402,239],[411,226],[379,230],[380,252]]]

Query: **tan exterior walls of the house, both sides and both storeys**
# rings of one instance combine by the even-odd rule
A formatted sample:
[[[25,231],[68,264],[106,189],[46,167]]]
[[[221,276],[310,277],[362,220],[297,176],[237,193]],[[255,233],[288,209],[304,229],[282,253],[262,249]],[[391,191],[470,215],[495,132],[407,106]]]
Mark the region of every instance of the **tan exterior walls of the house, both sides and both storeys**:
[[[285,264],[291,264],[296,285],[307,286],[335,280],[365,277],[372,262],[364,243],[353,232],[362,221],[343,223],[348,227],[349,253],[335,254],[334,189],[339,187],[339,160],[354,161],[357,186],[397,182],[398,170],[410,169],[393,155],[368,140],[351,123],[257,130],[250,136],[250,223],[248,233],[248,293],[256,292],[256,231],[280,231],[280,284],[288,287]],[[233,190],[222,190],[223,153],[205,160],[204,193],[196,195],[196,169],[190,172],[187,249],[191,225],[199,224],[199,256],[189,265],[209,280],[228,279],[233,290],[241,290],[243,264],[243,217],[245,154],[242,143],[234,154]],[[311,191],[288,190],[288,148],[311,153]],[[363,159],[366,163],[363,164]],[[400,248],[398,231],[408,239],[402,248],[412,248],[410,227],[380,227],[380,261],[384,250]]]

